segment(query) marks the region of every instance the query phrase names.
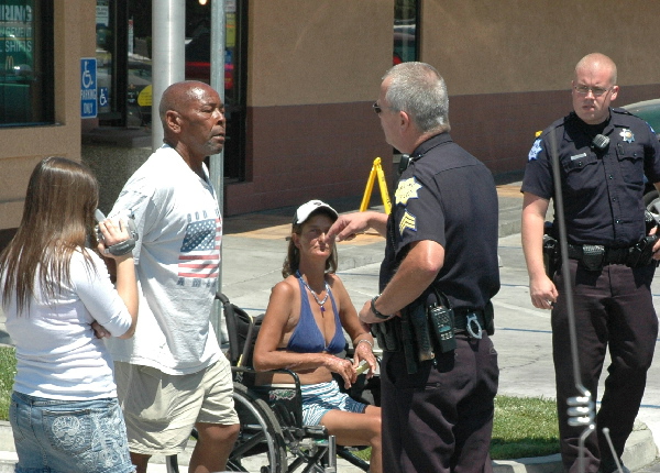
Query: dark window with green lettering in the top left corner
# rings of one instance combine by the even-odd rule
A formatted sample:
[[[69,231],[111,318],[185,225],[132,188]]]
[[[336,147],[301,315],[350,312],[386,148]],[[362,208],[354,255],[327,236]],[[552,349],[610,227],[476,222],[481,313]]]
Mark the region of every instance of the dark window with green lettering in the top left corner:
[[[53,123],[53,1],[0,0],[0,127]]]

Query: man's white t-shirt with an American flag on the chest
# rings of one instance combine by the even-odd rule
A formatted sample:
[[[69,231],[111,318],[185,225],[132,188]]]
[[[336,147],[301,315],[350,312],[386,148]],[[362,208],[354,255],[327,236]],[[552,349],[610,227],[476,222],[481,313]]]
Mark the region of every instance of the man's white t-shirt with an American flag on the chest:
[[[110,216],[133,213],[140,315],[130,340],[107,340],[116,361],[190,374],[219,360],[210,323],[222,219],[213,188],[172,147],[131,176]]]

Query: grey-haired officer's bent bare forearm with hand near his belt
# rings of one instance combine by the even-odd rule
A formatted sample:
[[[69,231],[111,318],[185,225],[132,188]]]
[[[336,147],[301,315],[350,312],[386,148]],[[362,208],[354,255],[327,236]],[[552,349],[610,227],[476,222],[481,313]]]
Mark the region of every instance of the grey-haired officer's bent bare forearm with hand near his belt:
[[[431,240],[411,243],[410,251],[375,304],[378,312],[394,315],[413,302],[431,285],[443,264],[444,249],[440,243]],[[371,300],[360,311],[360,320],[365,323],[384,321],[371,310]]]

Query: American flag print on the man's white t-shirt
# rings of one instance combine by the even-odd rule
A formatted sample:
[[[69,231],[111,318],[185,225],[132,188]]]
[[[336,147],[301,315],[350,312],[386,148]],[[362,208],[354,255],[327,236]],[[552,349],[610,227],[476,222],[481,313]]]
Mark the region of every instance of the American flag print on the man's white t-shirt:
[[[178,276],[218,277],[222,221],[218,217],[193,221],[193,216],[188,216],[188,222],[179,254]]]

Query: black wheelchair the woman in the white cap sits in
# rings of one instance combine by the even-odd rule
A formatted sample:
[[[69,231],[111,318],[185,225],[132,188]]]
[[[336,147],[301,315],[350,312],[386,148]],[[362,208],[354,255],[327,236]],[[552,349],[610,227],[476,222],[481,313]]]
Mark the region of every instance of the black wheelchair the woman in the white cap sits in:
[[[229,334],[229,352],[234,381],[234,406],[239,415],[240,433],[227,462],[227,471],[260,473],[334,473],[337,457],[362,471],[369,462],[355,454],[364,447],[337,446],[324,426],[302,425],[302,402],[298,375],[277,370],[292,377],[290,385],[255,386],[252,351],[263,315],[252,317],[231,304],[221,293],[216,295],[222,305]],[[346,350],[346,355],[352,353]],[[340,383],[343,386],[343,383]],[[380,378],[369,381],[360,375],[349,392],[365,404],[380,405]],[[193,431],[193,437],[197,432]],[[168,473],[178,473],[176,455],[167,458]]]

